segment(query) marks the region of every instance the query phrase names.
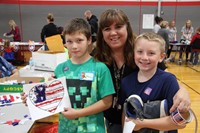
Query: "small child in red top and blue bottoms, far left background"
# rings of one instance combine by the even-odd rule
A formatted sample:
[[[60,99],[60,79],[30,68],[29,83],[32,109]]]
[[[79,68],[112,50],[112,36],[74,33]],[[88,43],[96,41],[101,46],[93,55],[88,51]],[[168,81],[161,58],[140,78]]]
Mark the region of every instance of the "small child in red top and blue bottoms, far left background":
[[[4,42],[4,53],[3,53],[4,59],[6,59],[8,62],[13,63],[15,60],[15,55],[13,52],[13,47],[10,46],[10,41],[8,39]]]

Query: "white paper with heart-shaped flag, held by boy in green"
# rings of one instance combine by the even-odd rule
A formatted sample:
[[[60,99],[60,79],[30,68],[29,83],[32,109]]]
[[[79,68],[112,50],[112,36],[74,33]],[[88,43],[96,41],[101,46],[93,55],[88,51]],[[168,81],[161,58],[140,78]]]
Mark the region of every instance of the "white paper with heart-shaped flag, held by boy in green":
[[[64,111],[71,107],[66,78],[23,86],[33,121]]]

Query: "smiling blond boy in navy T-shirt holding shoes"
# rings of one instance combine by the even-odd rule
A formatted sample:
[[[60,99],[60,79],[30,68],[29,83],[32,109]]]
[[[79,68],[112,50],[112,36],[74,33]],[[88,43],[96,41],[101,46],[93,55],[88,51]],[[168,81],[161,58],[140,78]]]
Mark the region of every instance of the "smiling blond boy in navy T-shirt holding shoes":
[[[155,33],[143,33],[136,38],[134,48],[134,59],[139,70],[122,79],[122,102],[130,95],[136,94],[145,103],[166,99],[170,109],[179,86],[173,74],[157,68],[158,62],[165,58],[165,41]],[[169,114],[169,110],[167,111]],[[134,133],[142,128],[148,128],[149,132],[155,129],[177,133],[175,129],[184,127],[176,125],[170,116],[133,121],[136,124]]]

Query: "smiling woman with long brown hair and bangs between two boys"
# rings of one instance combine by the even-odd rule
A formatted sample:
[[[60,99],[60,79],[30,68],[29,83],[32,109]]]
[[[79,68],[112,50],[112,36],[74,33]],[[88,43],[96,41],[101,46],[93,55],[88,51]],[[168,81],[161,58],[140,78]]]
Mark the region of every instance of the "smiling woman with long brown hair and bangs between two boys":
[[[123,11],[108,9],[101,14],[94,57],[108,66],[116,91],[113,106],[104,112],[108,133],[122,133],[122,105],[118,104],[120,83],[122,78],[136,70],[133,59],[134,41],[130,21]],[[176,107],[180,110],[190,107],[186,89],[181,90],[174,97],[174,105],[170,111],[174,111]]]

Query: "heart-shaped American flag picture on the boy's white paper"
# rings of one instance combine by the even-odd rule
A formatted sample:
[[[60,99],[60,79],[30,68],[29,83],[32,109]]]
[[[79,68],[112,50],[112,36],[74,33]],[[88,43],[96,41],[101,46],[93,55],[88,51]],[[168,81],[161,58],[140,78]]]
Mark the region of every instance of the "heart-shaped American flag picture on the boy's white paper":
[[[64,87],[59,80],[50,84],[35,85],[29,92],[31,103],[44,111],[54,113],[64,96]]]

